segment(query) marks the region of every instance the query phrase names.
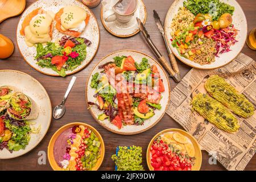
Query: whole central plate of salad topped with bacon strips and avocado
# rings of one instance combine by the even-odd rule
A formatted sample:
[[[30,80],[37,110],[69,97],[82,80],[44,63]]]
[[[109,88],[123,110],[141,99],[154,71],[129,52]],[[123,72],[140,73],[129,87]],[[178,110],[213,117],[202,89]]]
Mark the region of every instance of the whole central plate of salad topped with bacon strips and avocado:
[[[113,133],[133,135],[156,125],[170,99],[168,77],[152,57],[118,51],[93,68],[86,101],[94,119]]]

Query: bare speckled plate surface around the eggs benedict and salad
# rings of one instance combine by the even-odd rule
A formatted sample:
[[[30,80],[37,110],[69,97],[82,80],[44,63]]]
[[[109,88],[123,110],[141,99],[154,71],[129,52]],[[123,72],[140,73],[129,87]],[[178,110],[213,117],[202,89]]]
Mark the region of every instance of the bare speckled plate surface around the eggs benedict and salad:
[[[89,64],[89,62],[93,59],[94,55],[96,54],[98,50],[98,46],[100,44],[100,29],[98,27],[97,20],[93,15],[92,11],[90,11],[90,9],[86,7],[83,3],[76,0],[52,0],[52,1],[42,0],[42,1],[36,1],[35,3],[32,3],[32,5],[30,5],[24,11],[24,13],[19,19],[18,27],[16,30],[16,39],[17,39],[19,51],[24,57],[24,60],[26,60],[27,63],[32,68],[46,75],[59,76],[52,69],[42,68],[36,64],[36,60],[34,59],[34,56],[36,56],[36,48],[28,47],[24,41],[24,36],[20,35],[19,31],[20,31],[20,28],[22,27],[22,22],[24,18],[27,16],[27,14],[31,13],[31,11],[33,11],[34,9],[38,7],[42,7],[44,10],[51,10],[54,13],[57,13],[61,8],[68,5],[76,5],[76,6],[82,7],[83,9],[86,10],[87,13],[90,14],[89,23],[85,27],[85,31],[82,32],[81,37],[89,39],[92,42],[92,44],[86,48],[87,55],[86,55],[86,59],[82,61],[82,64],[76,69],[74,69],[73,71],[66,71],[67,75],[71,75],[85,68],[86,65]],[[59,31],[56,30],[56,28],[53,28],[52,42],[59,40],[63,35],[64,34],[61,34]]]

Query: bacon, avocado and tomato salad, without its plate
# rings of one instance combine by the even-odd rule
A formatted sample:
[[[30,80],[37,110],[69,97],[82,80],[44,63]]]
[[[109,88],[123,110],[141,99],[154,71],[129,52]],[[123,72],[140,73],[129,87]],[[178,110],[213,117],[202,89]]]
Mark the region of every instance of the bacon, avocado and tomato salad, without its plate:
[[[90,107],[101,110],[98,120],[108,119],[118,129],[126,125],[143,125],[161,110],[163,80],[155,64],[144,57],[137,62],[132,56],[116,56],[98,66],[102,71],[92,75],[90,88],[95,89],[95,101]]]

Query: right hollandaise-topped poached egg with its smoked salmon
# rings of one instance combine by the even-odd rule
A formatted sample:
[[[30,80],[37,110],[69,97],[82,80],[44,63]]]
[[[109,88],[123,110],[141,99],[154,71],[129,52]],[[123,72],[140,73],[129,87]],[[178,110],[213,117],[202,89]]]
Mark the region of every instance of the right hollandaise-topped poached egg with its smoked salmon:
[[[56,29],[63,34],[79,37],[85,30],[89,17],[79,6],[66,6],[55,15]]]

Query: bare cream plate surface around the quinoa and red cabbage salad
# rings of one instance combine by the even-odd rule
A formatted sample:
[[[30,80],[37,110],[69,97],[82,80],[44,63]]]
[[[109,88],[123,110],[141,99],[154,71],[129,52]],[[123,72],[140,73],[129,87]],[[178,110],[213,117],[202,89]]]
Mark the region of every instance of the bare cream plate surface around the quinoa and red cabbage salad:
[[[236,40],[238,40],[238,42],[236,44],[234,44],[233,46],[231,46],[231,48],[230,48],[230,49],[232,49],[232,51],[220,54],[219,57],[215,57],[215,61],[213,63],[207,64],[207,65],[200,65],[198,63],[195,63],[195,62],[179,55],[179,52],[177,51],[177,49],[172,47],[172,45],[171,45],[172,36],[170,34],[170,32],[171,32],[170,26],[171,26],[172,19],[174,18],[174,16],[177,14],[177,11],[179,10],[179,7],[183,7],[183,2],[184,2],[184,0],[176,0],[174,3],[172,3],[172,5],[166,15],[166,22],[165,22],[165,26],[164,26],[166,36],[167,36],[168,46],[172,49],[172,52],[175,54],[175,56],[183,63],[185,63],[191,67],[199,68],[199,69],[219,68],[219,67],[222,67],[222,66],[230,63],[230,61],[232,61],[235,57],[237,57],[238,53],[241,52],[241,50],[245,44],[245,41],[246,41],[247,22],[246,22],[245,14],[243,13],[241,6],[235,0],[221,0],[221,2],[225,2],[231,6],[234,6],[234,9],[235,9],[234,14],[232,16],[232,18],[233,18],[232,23],[234,24],[234,27],[239,31],[238,31],[238,35],[236,37]]]

